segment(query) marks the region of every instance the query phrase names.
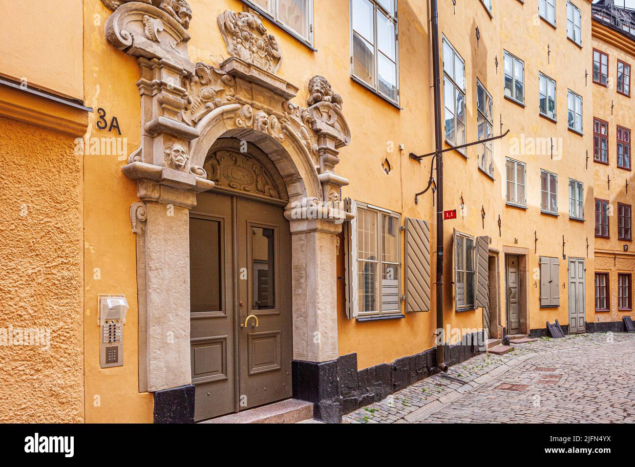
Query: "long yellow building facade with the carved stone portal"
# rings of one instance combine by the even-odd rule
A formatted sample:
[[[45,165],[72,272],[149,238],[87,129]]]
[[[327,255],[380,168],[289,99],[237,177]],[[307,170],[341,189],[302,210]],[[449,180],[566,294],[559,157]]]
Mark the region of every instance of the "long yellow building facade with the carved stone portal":
[[[0,419],[192,422],[294,397],[338,421],[439,371],[437,187],[415,200],[433,158],[411,157],[434,152],[429,4],[10,3],[0,328],[50,348],[0,346]],[[486,338],[632,316],[596,309],[592,274],[617,302],[631,267],[615,217],[608,240],[594,225],[596,198],[628,204],[630,99],[591,73],[594,48],[609,77],[633,63],[622,36],[586,0],[439,4],[450,367]]]

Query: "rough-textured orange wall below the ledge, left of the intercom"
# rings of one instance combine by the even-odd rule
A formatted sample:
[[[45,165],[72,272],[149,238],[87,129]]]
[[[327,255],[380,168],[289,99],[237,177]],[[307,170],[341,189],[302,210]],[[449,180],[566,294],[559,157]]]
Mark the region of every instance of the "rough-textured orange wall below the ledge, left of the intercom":
[[[81,160],[74,137],[2,116],[0,141],[0,328],[50,333],[0,345],[0,421],[81,422]]]

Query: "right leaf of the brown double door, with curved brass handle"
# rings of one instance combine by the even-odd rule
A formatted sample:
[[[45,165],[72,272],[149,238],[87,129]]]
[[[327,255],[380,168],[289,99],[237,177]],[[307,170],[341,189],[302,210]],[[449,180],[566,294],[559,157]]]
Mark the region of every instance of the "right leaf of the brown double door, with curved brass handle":
[[[240,410],[291,396],[291,233],[283,209],[237,200]]]

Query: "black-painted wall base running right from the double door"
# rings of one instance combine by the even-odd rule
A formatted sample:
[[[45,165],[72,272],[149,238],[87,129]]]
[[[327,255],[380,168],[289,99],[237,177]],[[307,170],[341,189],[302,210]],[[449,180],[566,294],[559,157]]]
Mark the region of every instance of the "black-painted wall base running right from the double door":
[[[482,332],[474,333],[445,347],[448,367],[481,352],[479,334],[482,338]],[[436,348],[363,370],[358,370],[356,353],[322,363],[294,360],[292,369],[293,397],[312,402],[314,418],[326,423],[339,423],[343,415],[439,372]]]

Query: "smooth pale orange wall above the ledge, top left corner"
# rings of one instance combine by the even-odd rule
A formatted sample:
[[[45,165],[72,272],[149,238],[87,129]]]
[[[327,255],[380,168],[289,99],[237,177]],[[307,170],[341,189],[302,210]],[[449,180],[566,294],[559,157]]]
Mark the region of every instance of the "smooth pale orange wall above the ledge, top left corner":
[[[82,2],[3,0],[2,8],[0,76],[83,100]]]

